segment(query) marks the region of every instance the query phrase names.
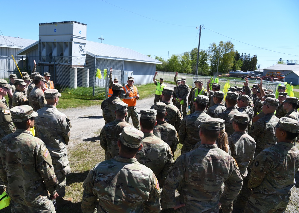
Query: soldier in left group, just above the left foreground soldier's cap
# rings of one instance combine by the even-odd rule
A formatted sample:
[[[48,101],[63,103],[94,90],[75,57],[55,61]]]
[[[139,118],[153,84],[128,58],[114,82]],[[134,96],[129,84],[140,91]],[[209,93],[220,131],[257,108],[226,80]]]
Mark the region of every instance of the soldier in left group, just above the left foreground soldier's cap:
[[[29,105],[27,96],[23,92],[26,85],[27,84],[24,82],[23,79],[19,79],[19,78],[15,79],[16,91],[13,93],[13,107],[21,106],[21,105]]]

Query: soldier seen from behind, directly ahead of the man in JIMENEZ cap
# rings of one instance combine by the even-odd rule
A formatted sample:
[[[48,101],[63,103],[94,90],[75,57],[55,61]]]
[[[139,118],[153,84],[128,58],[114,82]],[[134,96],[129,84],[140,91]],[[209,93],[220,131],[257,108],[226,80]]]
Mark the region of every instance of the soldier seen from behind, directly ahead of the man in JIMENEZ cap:
[[[152,169],[160,186],[163,187],[174,159],[169,145],[153,133],[157,123],[156,115],[155,109],[140,110],[140,126],[144,139],[142,140],[143,148],[137,152],[136,159],[142,165]]]

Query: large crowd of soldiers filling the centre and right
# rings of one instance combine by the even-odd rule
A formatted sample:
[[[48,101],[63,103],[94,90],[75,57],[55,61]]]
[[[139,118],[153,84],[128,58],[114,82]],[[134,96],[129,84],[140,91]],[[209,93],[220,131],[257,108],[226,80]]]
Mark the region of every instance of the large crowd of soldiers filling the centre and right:
[[[298,98],[281,85],[277,99],[247,78],[225,96],[217,83],[205,89],[196,80],[190,91],[182,78],[172,89],[156,75],[155,103],[140,110],[140,128],[126,122],[121,101],[134,79],[129,88],[112,84],[103,108],[111,120],[100,133],[105,161],[83,183],[83,212],[284,212],[299,169]]]

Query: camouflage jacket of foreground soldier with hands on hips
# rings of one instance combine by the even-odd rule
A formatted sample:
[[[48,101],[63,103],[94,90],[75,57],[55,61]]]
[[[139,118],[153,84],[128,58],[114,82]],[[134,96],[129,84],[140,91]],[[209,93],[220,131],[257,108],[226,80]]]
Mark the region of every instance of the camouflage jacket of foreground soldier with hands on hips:
[[[219,200],[219,191],[226,181]],[[237,197],[243,179],[234,158],[216,144],[201,144],[194,151],[182,154],[169,170],[163,188],[163,207],[185,203],[178,212],[218,212],[218,203],[229,204]],[[181,184],[180,197],[175,189]]]

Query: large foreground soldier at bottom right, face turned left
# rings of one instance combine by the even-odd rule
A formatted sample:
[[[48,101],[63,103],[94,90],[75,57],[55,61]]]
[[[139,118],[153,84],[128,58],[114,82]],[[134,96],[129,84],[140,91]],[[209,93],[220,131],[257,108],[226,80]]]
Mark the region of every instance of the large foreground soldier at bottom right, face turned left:
[[[299,151],[292,143],[299,124],[291,118],[280,118],[275,126],[277,144],[256,156],[248,187],[252,189],[245,212],[285,212],[295,174],[299,169]]]

